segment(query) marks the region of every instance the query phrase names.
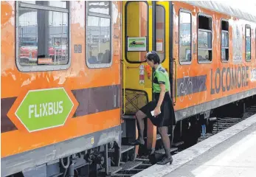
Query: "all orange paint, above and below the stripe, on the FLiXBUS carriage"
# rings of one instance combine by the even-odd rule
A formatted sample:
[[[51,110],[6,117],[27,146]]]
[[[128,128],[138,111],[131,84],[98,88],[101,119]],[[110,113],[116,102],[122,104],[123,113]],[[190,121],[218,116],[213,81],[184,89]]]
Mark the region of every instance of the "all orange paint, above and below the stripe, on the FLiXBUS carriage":
[[[114,54],[109,68],[89,69],[86,65],[86,13],[85,3],[70,1],[71,13],[71,66],[69,69],[50,72],[19,72],[15,64],[15,1],[1,1],[1,99],[18,97],[8,112],[17,131],[1,133],[1,157],[11,156],[77,136],[103,131],[120,125],[120,108],[71,118],[77,108],[72,90],[100,86],[120,85],[121,58],[121,2],[112,1],[118,17],[113,24]],[[82,45],[82,53],[74,52],[74,45]],[[65,125],[44,131],[28,133],[14,113],[29,90],[64,87],[75,106]]]

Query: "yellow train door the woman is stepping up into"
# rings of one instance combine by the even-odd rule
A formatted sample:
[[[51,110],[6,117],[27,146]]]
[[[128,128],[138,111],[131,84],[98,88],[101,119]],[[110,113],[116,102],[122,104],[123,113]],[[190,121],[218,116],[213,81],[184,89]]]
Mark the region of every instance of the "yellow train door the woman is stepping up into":
[[[128,138],[137,136],[134,114],[153,97],[153,71],[144,62],[146,53],[158,52],[170,71],[168,34],[168,1],[122,1],[122,118]],[[148,150],[154,149],[156,127],[149,119],[145,119],[145,137]]]

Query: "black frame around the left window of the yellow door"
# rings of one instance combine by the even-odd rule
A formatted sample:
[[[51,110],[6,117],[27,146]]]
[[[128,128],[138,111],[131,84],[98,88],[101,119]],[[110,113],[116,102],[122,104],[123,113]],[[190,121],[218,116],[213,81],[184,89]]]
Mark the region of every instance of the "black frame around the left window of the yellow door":
[[[149,38],[148,38],[148,35],[149,35],[149,4],[148,4],[148,1],[127,1],[125,3],[125,60],[128,62],[128,63],[144,63],[145,61],[133,61],[133,60],[129,60],[128,59],[128,55],[127,53],[128,52],[133,52],[133,51],[127,51],[127,48],[128,48],[128,35],[127,35],[127,13],[128,13],[128,4],[132,3],[132,2],[145,2],[145,4],[147,4],[147,36],[146,37],[146,40],[147,40],[147,44],[146,44],[146,51],[145,52],[148,52],[148,49],[149,49]],[[152,40],[152,42],[154,43],[155,41]]]

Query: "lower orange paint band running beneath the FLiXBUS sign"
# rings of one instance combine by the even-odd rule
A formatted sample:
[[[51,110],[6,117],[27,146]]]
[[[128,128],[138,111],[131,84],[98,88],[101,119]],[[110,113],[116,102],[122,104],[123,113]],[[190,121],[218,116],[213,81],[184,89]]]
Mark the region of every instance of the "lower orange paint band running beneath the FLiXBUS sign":
[[[68,119],[58,128],[1,133],[1,158],[120,125],[120,109]]]

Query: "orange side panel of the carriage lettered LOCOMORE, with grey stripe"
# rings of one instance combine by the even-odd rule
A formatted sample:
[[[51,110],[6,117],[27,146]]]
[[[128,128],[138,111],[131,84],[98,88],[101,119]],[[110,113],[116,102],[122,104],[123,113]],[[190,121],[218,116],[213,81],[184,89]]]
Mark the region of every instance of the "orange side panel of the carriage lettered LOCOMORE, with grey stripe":
[[[177,63],[179,63],[176,80],[177,104],[175,106],[177,119],[183,119],[254,95],[256,92],[255,82],[251,78],[252,71],[255,69],[255,55],[253,54],[255,43],[251,43],[251,48],[253,48],[251,60],[246,61],[245,27],[246,24],[249,24],[252,29],[255,29],[255,23],[232,18],[221,13],[213,13],[211,10],[184,4],[179,1],[175,1],[173,4],[173,58],[177,58]],[[184,12],[187,10],[187,14],[191,15],[190,27],[192,32],[190,35],[192,35],[192,40],[190,43],[192,49],[190,52],[192,60],[190,63],[181,63],[180,55],[181,52],[184,52],[179,47],[180,40],[182,40],[182,38],[179,38],[180,12],[182,10]],[[210,30],[198,30],[198,27],[200,28],[203,25],[198,20],[199,16],[210,20]],[[229,23],[229,58],[227,61],[221,61],[221,20],[223,19],[226,19]],[[234,41],[235,37],[233,34],[236,27],[239,29],[240,41]],[[201,28],[204,29],[204,27]],[[201,46],[198,46],[198,42],[201,42],[202,36],[207,35],[207,33],[212,38],[209,44],[212,46],[209,49],[212,57],[200,60],[198,56],[201,55]],[[201,36],[199,36],[200,34]],[[254,39],[254,35],[251,35],[251,41],[255,41]],[[239,56],[234,56],[237,50],[234,49],[234,45],[237,44],[240,47],[240,59],[238,58]],[[206,49],[204,48],[204,50]],[[239,60],[235,60],[235,58]]]

